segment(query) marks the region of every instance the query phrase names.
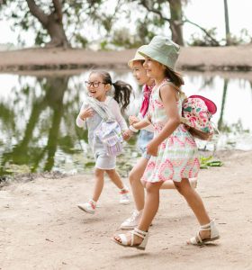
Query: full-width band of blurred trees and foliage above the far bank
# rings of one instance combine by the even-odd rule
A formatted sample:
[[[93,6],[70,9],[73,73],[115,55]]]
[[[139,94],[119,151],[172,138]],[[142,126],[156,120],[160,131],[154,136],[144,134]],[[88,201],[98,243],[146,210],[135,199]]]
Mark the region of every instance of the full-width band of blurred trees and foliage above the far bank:
[[[238,45],[251,42],[247,31],[239,37],[229,32],[228,1],[225,5],[226,38],[216,39],[216,29],[202,28],[186,18],[188,0],[2,0],[1,18],[12,23],[18,41],[25,45],[27,31],[35,45],[46,47],[90,47],[130,49],[164,34],[184,45],[183,26],[190,23],[202,34],[194,34],[190,46]],[[1,19],[0,19],[1,20]],[[123,25],[127,25],[124,27]],[[130,25],[130,27],[128,27]],[[228,40],[227,40],[228,39]]]

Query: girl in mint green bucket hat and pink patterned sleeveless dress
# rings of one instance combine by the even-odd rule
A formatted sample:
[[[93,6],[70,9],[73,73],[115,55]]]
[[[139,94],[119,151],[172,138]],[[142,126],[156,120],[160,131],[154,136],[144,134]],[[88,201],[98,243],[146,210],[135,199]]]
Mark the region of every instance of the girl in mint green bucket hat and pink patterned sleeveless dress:
[[[200,195],[188,180],[197,177],[200,161],[194,138],[181,122],[184,93],[180,87],[184,80],[175,72],[179,46],[166,37],[156,36],[139,53],[145,57],[143,66],[147,75],[155,80],[147,117],[132,124],[136,130],[152,124],[155,130],[154,138],[147,147],[151,157],[141,178],[147,198],[137,228],[127,234],[115,235],[113,241],[123,247],[146,248],[148,229],[158,210],[159,189],[167,180],[174,182],[201,226],[196,236],[187,243],[203,245],[214,241],[220,238],[219,231],[209,218]]]

